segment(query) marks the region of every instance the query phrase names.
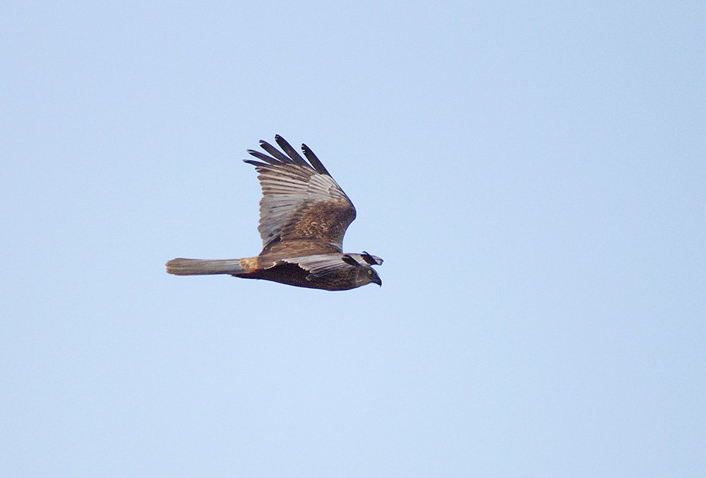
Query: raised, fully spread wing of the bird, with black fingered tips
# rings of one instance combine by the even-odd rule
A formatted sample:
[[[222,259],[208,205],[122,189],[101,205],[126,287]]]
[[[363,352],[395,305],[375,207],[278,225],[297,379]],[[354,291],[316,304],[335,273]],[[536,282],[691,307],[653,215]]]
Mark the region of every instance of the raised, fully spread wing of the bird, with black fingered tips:
[[[286,155],[260,141],[270,155],[248,150],[261,161],[244,160],[255,166],[263,190],[258,227],[263,249],[277,239],[310,239],[342,251],[343,235],[355,219],[353,203],[306,145],[301,150],[309,162],[281,136],[275,141]]]

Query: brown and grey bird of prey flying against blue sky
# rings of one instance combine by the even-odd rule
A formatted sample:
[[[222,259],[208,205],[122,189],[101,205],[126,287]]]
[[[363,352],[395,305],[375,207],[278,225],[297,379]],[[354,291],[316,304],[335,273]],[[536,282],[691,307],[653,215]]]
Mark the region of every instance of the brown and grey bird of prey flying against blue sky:
[[[306,145],[306,162],[284,138],[277,145],[260,141],[265,150],[248,150],[263,191],[260,226],[263,250],[241,259],[184,259],[167,262],[175,275],[230,274],[297,287],[347,290],[382,285],[372,265],[383,260],[363,253],[343,253],[343,235],[355,219],[355,208],[321,161]],[[285,154],[286,153],[286,154]]]

